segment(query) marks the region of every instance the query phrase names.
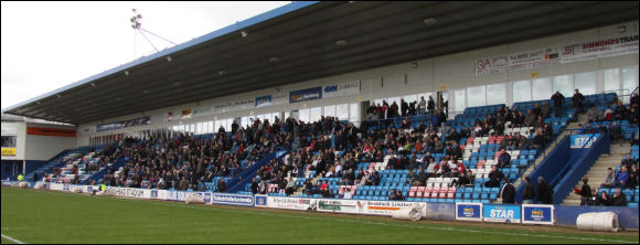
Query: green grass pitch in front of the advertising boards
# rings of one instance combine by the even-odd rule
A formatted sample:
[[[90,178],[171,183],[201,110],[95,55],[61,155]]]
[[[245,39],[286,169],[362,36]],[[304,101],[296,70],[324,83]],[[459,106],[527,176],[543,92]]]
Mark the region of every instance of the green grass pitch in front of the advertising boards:
[[[2,187],[2,235],[23,243],[638,243],[637,233],[527,231]],[[2,238],[2,244],[13,243]]]

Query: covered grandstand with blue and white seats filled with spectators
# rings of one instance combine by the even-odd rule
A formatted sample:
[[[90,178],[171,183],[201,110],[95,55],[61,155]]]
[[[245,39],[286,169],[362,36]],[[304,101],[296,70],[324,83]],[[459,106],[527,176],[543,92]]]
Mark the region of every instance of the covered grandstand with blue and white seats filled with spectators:
[[[291,2],[4,108],[2,181],[637,231],[638,47],[638,1]]]

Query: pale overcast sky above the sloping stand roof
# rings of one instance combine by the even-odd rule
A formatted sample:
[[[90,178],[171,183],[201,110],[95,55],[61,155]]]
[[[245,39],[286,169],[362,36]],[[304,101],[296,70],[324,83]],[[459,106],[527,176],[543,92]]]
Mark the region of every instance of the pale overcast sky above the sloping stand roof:
[[[2,109],[156,51],[129,19],[174,43],[288,4],[238,2],[4,2]],[[173,44],[147,34],[158,50]]]

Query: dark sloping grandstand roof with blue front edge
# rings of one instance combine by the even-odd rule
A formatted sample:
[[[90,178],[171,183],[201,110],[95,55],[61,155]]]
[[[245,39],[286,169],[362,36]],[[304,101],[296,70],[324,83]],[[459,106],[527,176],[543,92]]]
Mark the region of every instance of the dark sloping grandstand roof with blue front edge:
[[[3,113],[78,125],[638,19],[638,1],[292,2]]]

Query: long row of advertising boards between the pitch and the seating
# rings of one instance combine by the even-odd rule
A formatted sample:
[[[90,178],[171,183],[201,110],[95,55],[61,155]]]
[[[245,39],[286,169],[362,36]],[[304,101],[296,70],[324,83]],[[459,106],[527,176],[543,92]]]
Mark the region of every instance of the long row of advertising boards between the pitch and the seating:
[[[3,181],[2,185],[14,182]],[[33,182],[30,187],[33,187]],[[98,190],[96,185],[45,183],[44,189],[76,192],[81,189],[84,193],[93,193]],[[638,230],[638,207],[626,206],[562,206],[542,204],[482,204],[482,203],[430,203],[407,201],[366,201],[344,199],[314,199],[296,196],[267,196],[248,194],[228,194],[212,192],[168,191],[135,188],[108,187],[109,195],[119,195],[137,199],[166,200],[184,202],[189,194],[201,195],[205,204],[225,204],[255,206],[262,209],[284,209],[311,212],[330,212],[346,214],[363,214],[393,216],[406,209],[412,209],[418,203],[422,216],[427,220],[458,220],[477,222],[500,222],[522,224],[546,225],[576,225],[577,216],[590,212],[614,212],[618,214],[620,226],[627,230]]]

